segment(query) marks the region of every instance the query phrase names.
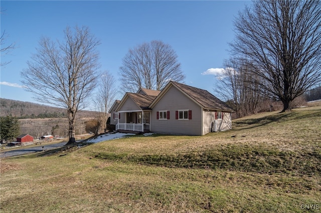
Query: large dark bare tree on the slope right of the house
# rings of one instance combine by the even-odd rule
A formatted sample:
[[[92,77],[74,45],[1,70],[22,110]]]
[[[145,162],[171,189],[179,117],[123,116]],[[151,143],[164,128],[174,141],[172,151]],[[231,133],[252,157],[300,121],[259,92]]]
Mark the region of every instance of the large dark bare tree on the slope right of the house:
[[[255,0],[235,20],[232,53],[254,64],[262,91],[291,101],[321,80],[321,2]],[[262,81],[261,81],[262,82]]]

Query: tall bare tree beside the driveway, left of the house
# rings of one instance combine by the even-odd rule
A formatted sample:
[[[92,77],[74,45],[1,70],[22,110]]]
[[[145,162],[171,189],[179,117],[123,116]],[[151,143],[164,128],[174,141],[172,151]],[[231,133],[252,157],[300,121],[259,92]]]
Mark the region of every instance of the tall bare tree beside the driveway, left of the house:
[[[75,143],[76,113],[86,107],[85,100],[96,85],[100,42],[88,27],[67,27],[64,33],[63,42],[42,37],[21,76],[35,99],[67,109],[69,145]]]

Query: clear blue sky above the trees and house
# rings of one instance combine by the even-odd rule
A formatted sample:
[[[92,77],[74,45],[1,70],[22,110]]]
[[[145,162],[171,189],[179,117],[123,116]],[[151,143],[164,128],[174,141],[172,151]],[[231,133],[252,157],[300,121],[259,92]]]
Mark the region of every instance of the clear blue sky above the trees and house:
[[[63,37],[66,26],[86,25],[101,41],[100,70],[118,81],[121,60],[132,48],[159,39],[178,55],[185,83],[214,93],[214,73],[229,58],[233,20],[250,1],[6,1],[1,0],[1,33],[14,50],[1,55],[0,96],[37,102],[24,90],[20,72],[41,36]],[[207,73],[207,74],[206,74]],[[117,88],[118,89],[118,88]],[[118,99],[121,96],[117,97]]]

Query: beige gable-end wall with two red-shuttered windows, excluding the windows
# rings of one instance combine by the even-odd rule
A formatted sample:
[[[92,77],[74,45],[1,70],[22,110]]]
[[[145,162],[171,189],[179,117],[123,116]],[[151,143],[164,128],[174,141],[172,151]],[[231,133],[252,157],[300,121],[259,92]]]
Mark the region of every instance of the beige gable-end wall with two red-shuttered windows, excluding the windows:
[[[192,110],[192,119],[176,119],[175,113],[179,109]],[[170,111],[170,119],[157,119],[157,111],[162,110]],[[201,135],[203,133],[201,117],[202,108],[176,87],[172,86],[152,108],[150,113],[150,130],[159,133]]]

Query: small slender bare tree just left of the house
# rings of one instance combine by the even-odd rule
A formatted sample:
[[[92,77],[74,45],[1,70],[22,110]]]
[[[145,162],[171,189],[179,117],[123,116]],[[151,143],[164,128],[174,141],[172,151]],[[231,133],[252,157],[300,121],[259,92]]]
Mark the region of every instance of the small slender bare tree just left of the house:
[[[100,74],[98,91],[94,96],[94,103],[99,111],[97,119],[101,124],[101,128],[106,131],[106,124],[108,119],[108,111],[113,104],[117,91],[115,90],[114,77],[105,71]]]

